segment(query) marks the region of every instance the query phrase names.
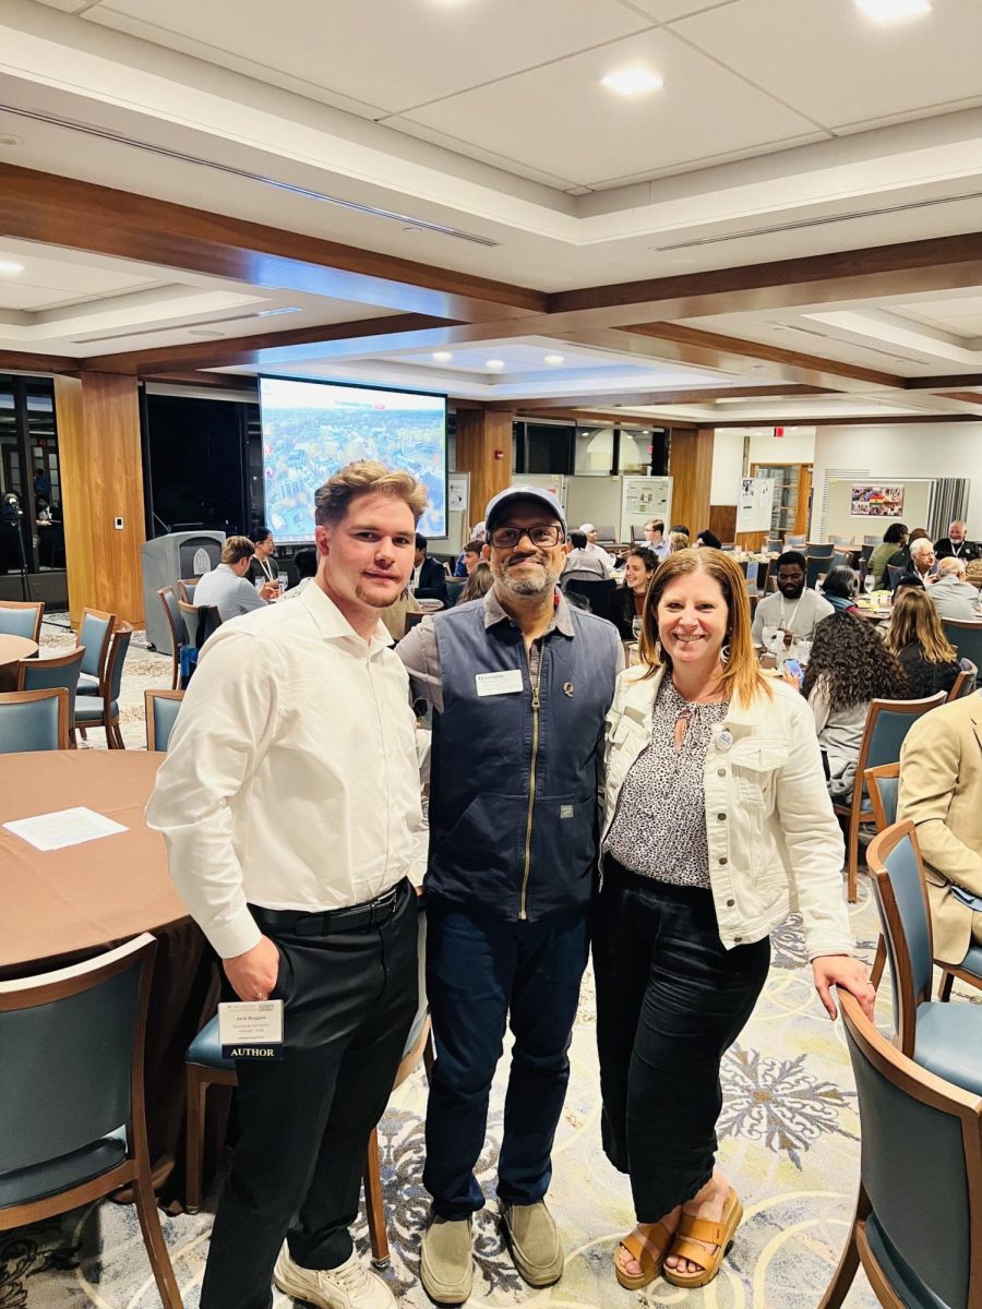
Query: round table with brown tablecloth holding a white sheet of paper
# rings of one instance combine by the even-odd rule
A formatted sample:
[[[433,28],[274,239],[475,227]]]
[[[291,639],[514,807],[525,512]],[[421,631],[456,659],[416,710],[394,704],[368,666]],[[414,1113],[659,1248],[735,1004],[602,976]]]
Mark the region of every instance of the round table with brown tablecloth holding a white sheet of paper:
[[[0,979],[64,967],[140,932],[157,937],[147,1131],[155,1182],[166,1182],[170,1198],[183,1183],[185,1051],[215,1013],[217,977],[211,949],[168,876],[164,839],[143,818],[164,758],[145,750],[0,755],[0,825],[84,805],[127,829],[41,851],[0,826]],[[181,1166],[168,1181],[174,1160]]]

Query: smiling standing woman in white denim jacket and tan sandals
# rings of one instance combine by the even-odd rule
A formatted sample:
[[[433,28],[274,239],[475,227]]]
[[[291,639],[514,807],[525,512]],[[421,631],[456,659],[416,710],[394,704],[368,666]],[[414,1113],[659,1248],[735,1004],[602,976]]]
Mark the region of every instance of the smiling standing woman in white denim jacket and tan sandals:
[[[733,560],[703,548],[663,563],[640,652],[608,715],[593,936],[604,1148],[638,1219],[614,1261],[628,1289],[661,1271],[704,1285],[742,1216],[715,1166],[719,1069],[766,980],[771,931],[801,914],[830,1017],[833,984],[871,1017],[873,1003],[814,721],[758,672]]]

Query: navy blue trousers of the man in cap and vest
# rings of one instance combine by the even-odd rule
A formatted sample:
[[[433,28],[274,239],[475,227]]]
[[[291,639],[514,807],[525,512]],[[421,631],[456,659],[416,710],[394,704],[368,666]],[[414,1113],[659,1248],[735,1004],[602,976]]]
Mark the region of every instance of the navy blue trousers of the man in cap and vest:
[[[427,996],[436,1064],[423,1185],[440,1217],[464,1219],[484,1204],[474,1168],[484,1148],[488,1096],[507,1024],[515,1045],[498,1195],[509,1204],[534,1204],[546,1194],[588,953],[585,906],[534,923],[509,923],[427,897]]]

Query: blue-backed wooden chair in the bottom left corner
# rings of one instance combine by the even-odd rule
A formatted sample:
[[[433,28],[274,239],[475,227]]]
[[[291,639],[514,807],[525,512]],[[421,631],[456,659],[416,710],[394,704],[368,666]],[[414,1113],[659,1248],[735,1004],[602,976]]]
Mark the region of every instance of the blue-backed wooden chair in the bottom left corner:
[[[161,1304],[182,1309],[144,1114],[156,950],[144,933],[84,963],[0,982],[0,1230],[132,1186]]]

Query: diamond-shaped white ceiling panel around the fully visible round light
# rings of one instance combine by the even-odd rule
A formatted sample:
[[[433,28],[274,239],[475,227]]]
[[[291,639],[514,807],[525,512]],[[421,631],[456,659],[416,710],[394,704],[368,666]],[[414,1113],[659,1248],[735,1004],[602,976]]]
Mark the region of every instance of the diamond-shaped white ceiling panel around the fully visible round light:
[[[609,72],[634,64],[659,73],[664,89],[622,97],[600,84]],[[581,186],[812,131],[807,119],[664,30],[475,88],[405,117]]]

